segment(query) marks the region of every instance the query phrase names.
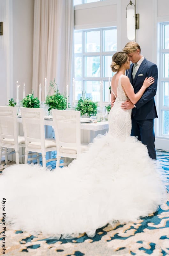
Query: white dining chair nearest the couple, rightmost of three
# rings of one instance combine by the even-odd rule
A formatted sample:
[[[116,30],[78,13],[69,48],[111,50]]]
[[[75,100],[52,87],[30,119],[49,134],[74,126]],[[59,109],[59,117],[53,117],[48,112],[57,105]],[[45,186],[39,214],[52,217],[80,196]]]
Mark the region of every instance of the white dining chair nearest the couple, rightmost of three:
[[[88,149],[80,142],[80,111],[52,109],[52,116],[57,146],[56,167],[68,165]],[[69,161],[60,164],[61,157],[69,158]]]

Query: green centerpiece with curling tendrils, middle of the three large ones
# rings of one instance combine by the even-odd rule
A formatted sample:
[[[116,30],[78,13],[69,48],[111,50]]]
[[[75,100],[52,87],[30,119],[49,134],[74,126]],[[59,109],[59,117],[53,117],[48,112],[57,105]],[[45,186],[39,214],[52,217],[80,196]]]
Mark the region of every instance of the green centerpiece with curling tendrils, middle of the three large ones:
[[[51,89],[54,89],[54,94],[47,95],[46,101],[45,101],[45,103],[49,105],[48,111],[50,111],[51,109],[64,110],[67,107],[67,98],[59,92],[58,87],[56,90],[55,85],[57,87],[57,84],[55,83],[55,78],[54,78],[54,82],[50,81],[50,89],[49,89],[49,92],[51,91]]]

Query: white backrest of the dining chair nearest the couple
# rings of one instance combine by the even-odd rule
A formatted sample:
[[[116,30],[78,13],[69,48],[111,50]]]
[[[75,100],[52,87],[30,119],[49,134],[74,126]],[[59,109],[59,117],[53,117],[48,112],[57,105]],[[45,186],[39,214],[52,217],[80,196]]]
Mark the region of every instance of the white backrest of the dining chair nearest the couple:
[[[76,148],[81,153],[80,143],[80,111],[52,110],[56,147]]]

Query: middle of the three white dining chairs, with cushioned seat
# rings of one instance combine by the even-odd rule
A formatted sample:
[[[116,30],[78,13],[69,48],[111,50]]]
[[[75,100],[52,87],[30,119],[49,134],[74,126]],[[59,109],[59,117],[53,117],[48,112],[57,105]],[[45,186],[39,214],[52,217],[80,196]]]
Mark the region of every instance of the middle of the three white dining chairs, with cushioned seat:
[[[22,116],[23,131],[25,136],[25,164],[30,160],[29,152],[41,153],[42,164],[56,159],[46,160],[46,153],[56,151],[54,139],[45,138],[44,110],[43,108],[20,108]]]

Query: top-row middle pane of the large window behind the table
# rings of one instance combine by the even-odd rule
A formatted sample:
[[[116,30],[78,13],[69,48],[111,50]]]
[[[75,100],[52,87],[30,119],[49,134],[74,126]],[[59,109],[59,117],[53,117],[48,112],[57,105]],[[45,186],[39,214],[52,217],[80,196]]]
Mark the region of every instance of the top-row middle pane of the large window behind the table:
[[[86,52],[100,51],[100,31],[86,32]]]

